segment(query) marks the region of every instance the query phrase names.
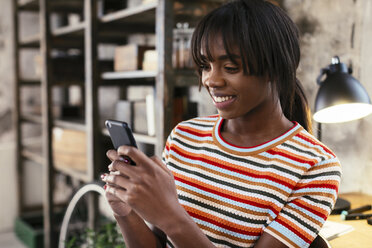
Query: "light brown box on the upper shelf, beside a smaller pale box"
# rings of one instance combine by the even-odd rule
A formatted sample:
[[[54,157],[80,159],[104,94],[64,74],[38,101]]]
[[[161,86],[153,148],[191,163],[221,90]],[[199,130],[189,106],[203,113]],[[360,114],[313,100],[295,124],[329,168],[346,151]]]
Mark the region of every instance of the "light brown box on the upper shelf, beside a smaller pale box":
[[[142,70],[143,56],[145,51],[153,50],[154,47],[128,44],[115,48],[114,71]]]

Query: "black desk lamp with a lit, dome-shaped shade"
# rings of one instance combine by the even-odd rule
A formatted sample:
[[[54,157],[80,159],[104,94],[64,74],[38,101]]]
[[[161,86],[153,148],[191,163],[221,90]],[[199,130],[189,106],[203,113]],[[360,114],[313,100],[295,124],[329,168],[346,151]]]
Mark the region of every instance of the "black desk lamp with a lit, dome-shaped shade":
[[[372,113],[371,99],[365,88],[351,76],[351,69],[338,56],[320,71],[320,85],[315,99],[314,120],[318,122],[318,139],[322,138],[321,123],[340,123],[357,120]],[[323,76],[325,79],[322,81]],[[337,198],[332,214],[350,209],[350,202]]]

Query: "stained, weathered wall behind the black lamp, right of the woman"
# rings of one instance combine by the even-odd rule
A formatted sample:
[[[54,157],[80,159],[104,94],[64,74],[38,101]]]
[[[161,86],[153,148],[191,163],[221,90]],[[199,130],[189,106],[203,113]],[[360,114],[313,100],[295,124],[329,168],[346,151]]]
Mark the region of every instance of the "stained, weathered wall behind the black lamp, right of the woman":
[[[285,0],[284,7],[301,31],[302,60],[298,77],[314,105],[316,77],[338,55],[352,65],[356,77],[372,96],[372,1]],[[372,194],[372,116],[342,124],[324,124],[322,141],[339,157],[341,192]],[[315,125],[314,125],[315,127]]]

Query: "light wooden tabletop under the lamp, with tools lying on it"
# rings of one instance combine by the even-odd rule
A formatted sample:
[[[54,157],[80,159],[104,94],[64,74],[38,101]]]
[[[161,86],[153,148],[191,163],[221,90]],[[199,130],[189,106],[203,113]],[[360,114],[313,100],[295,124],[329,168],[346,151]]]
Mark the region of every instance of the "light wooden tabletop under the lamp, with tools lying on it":
[[[360,193],[340,194],[351,202],[351,208],[357,208],[366,204],[372,204],[372,196]],[[372,210],[364,213],[372,213]],[[335,221],[355,228],[354,231],[344,234],[330,241],[332,248],[372,248],[372,225],[367,220],[342,221],[340,215],[330,215],[328,220]]]

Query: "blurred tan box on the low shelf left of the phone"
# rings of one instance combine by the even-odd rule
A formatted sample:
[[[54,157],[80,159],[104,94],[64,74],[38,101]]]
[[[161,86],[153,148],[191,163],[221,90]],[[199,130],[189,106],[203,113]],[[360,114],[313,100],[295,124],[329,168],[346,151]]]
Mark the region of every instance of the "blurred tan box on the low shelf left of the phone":
[[[52,148],[55,168],[87,170],[85,132],[53,128]]]

